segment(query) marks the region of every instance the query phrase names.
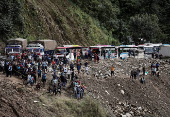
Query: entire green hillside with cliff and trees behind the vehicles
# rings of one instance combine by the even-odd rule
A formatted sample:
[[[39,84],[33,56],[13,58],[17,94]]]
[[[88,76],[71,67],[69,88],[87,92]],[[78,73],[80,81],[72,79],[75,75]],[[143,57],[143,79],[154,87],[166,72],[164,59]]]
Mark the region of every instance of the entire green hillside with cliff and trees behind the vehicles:
[[[0,39],[62,44],[169,43],[169,0],[1,0]]]

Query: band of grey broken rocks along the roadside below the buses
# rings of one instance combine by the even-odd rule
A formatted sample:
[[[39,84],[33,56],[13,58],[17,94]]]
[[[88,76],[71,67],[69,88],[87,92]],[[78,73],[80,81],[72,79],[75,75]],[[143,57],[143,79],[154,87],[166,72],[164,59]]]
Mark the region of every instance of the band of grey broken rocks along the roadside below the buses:
[[[160,73],[162,73],[162,70],[166,72],[166,74],[170,74],[170,67],[167,64],[168,62],[166,60],[160,60],[160,59],[135,59],[135,58],[127,58],[125,60],[121,59],[105,59],[99,61],[98,64],[92,65],[91,68],[92,74],[98,78],[108,78],[111,76],[111,66],[113,65],[115,68],[114,74],[115,76],[120,77],[127,77],[130,76],[130,72],[132,70],[136,70],[139,68],[141,71],[140,74],[142,74],[142,68],[145,67],[147,71],[150,71],[151,63],[159,63],[160,66]],[[163,65],[163,66],[162,66]]]

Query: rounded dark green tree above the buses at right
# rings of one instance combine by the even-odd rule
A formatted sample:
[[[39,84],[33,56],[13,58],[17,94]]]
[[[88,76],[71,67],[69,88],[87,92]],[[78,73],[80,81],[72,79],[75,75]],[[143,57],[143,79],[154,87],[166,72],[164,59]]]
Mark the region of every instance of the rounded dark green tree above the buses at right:
[[[139,43],[139,38],[146,41],[155,39],[161,33],[158,17],[152,14],[135,15],[130,18],[130,28],[133,40]]]

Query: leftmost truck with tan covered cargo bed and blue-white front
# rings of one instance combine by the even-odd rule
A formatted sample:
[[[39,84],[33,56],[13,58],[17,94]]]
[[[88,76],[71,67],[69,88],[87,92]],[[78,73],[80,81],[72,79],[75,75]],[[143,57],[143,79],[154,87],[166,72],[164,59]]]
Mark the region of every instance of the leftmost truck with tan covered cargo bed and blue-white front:
[[[22,54],[27,46],[27,39],[16,38],[7,41],[5,54]]]

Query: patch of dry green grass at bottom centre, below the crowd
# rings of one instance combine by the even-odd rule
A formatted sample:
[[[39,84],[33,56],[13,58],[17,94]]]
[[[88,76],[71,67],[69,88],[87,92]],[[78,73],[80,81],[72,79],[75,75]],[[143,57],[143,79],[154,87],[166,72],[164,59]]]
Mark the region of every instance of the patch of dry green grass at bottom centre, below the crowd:
[[[59,117],[107,117],[101,106],[88,96],[80,101],[67,97],[56,99],[53,96],[40,96],[39,100],[39,107],[47,109],[43,111],[46,116],[50,114]]]

